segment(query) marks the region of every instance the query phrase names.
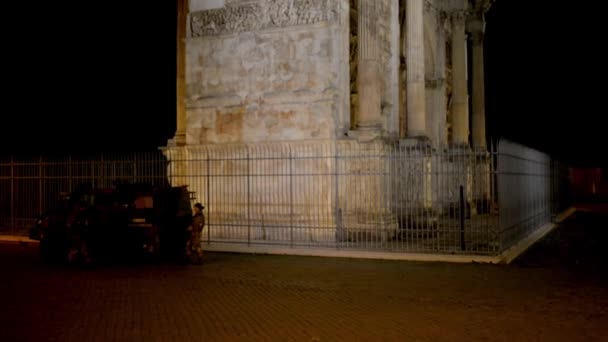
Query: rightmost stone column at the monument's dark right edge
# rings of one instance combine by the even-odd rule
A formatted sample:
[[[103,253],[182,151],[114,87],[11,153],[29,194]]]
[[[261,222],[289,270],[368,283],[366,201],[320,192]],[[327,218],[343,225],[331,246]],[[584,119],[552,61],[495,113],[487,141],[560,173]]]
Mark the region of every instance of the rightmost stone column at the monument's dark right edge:
[[[483,36],[484,36],[483,17],[475,18],[468,23],[471,43],[472,43],[472,62],[473,62],[473,146],[487,147],[486,145],[486,103],[484,85],[484,61],[483,61]]]

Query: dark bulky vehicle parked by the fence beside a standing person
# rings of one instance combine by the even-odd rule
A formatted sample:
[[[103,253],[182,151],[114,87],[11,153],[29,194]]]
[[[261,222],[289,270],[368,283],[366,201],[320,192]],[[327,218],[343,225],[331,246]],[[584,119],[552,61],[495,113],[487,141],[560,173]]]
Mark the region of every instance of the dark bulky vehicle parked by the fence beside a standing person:
[[[30,231],[45,259],[88,264],[131,257],[180,258],[192,222],[186,187],[121,183],[62,196]]]

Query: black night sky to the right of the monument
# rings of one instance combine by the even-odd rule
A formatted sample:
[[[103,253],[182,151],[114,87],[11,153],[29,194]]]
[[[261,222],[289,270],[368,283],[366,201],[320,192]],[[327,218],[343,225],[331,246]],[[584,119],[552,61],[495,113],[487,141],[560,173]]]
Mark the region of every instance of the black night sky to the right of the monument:
[[[486,15],[485,46],[493,137],[571,165],[607,164],[601,15],[565,1],[496,1]]]

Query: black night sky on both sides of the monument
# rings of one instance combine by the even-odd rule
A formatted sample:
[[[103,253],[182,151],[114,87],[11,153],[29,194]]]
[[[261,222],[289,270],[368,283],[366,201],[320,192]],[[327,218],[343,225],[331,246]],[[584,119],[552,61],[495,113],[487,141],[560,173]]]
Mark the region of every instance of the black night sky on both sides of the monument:
[[[86,3],[2,11],[3,154],[150,150],[173,136],[174,2]],[[497,0],[487,14],[488,132],[594,164],[607,135],[600,13],[548,3]]]

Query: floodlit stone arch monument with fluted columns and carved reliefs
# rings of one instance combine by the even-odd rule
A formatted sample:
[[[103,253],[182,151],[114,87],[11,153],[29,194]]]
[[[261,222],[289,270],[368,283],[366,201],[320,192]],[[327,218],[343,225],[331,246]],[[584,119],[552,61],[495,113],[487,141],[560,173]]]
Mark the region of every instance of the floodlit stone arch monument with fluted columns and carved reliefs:
[[[367,215],[390,231],[396,223],[384,180],[353,185],[335,176],[386,165],[349,163],[339,151],[484,148],[483,31],[491,3],[178,0],[177,131],[164,147],[172,182],[209,201],[211,222],[226,227],[298,228],[316,215],[327,229],[292,230],[291,238],[333,241],[345,222],[361,221],[357,201],[367,196],[378,202]],[[279,174],[276,182],[246,179],[259,171],[251,160]],[[288,179],[288,170],[320,176],[305,186]],[[228,184],[221,174],[235,176]],[[294,187],[300,190],[290,199],[278,195]],[[241,205],[252,201],[265,207]],[[235,230],[231,238],[244,234]],[[248,228],[247,238],[252,234],[279,239]]]

